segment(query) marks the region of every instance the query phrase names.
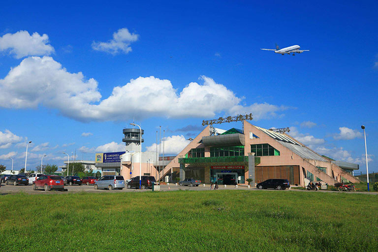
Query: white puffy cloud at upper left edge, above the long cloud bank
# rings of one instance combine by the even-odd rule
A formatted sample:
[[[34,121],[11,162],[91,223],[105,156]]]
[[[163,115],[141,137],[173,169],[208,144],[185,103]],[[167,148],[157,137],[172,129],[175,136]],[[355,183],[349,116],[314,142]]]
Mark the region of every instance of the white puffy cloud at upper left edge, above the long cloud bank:
[[[50,55],[54,52],[54,47],[48,44],[49,36],[38,32],[32,35],[27,31],[16,33],[6,33],[0,37],[0,51],[9,52],[16,59],[26,56]]]

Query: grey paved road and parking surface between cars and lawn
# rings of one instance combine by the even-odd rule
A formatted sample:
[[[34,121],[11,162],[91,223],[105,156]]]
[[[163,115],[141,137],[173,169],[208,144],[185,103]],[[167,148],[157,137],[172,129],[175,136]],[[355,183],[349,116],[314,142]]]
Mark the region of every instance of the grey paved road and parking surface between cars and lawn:
[[[46,194],[46,193],[67,193],[67,192],[95,192],[95,193],[98,193],[98,192],[106,192],[106,193],[115,193],[115,192],[129,192],[129,191],[138,191],[138,192],[144,192],[144,191],[151,191],[151,189],[145,189],[145,190],[139,190],[139,189],[123,189],[123,190],[119,190],[119,189],[114,189],[114,190],[105,190],[105,189],[98,189],[98,190],[95,190],[94,186],[87,186],[87,185],[83,185],[83,186],[65,186],[64,187],[65,189],[68,189],[68,191],[56,191],[56,190],[52,190],[52,191],[44,191],[44,190],[36,190],[34,191],[32,189],[32,185],[29,185],[29,186],[13,186],[13,185],[5,185],[5,184],[2,184],[1,185],[1,188],[0,188],[0,194],[8,194],[8,193],[17,193],[17,192],[25,192],[25,193],[30,193],[30,194],[37,194],[37,193],[42,193],[42,194]],[[198,191],[198,190],[209,190],[210,189],[210,185],[206,185],[205,187],[203,185],[200,185],[198,187],[180,187],[180,186],[176,186],[174,184],[170,184],[169,186],[167,185],[161,185],[160,186],[160,190],[161,191],[172,191],[172,190],[195,190],[195,191]],[[246,186],[238,186],[237,188],[235,188],[235,186],[227,186],[226,188],[224,188],[224,186],[220,186],[219,187],[219,190],[251,190],[251,191],[259,191],[259,189],[256,189],[256,188],[248,188]],[[264,189],[265,190],[265,189]],[[308,190],[299,190],[299,189],[289,189],[289,190],[285,190],[285,191],[302,191],[302,192],[305,192],[305,193],[321,193],[321,192],[328,192],[328,193],[364,193],[364,194],[378,194],[377,192],[341,192],[341,191],[329,191],[329,190],[318,190],[318,191],[308,191]]]

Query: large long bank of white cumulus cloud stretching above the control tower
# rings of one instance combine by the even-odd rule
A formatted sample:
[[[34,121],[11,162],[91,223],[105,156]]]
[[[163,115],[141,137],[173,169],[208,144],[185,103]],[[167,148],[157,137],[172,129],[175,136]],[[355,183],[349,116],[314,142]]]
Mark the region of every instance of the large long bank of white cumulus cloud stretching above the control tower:
[[[138,77],[100,100],[97,82],[81,72],[70,73],[51,57],[29,57],[0,79],[0,106],[57,109],[77,121],[137,120],[164,115],[167,118],[214,117],[216,114],[252,113],[254,120],[280,116],[287,109],[268,103],[240,104],[224,85],[201,76],[203,84],[191,82],[180,93],[166,79]],[[125,102],[127,100],[127,102]]]

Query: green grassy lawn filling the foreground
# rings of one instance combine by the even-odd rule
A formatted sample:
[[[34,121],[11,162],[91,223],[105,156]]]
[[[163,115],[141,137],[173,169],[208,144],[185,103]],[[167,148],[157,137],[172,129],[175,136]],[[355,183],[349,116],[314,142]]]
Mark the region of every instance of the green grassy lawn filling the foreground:
[[[0,196],[0,251],[376,251],[377,195],[170,191]]]

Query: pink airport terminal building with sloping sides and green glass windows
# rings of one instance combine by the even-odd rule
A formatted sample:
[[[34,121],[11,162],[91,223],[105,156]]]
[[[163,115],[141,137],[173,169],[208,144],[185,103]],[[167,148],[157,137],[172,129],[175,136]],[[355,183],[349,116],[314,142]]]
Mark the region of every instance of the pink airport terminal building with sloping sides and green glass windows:
[[[252,184],[282,178],[292,185],[305,186],[307,180],[329,185],[350,181],[357,164],[336,161],[315,153],[285,133],[253,126],[243,121],[243,129],[216,130],[207,126],[173,158],[160,177],[181,180],[196,178],[202,183]],[[176,174],[176,175],[175,175]]]

